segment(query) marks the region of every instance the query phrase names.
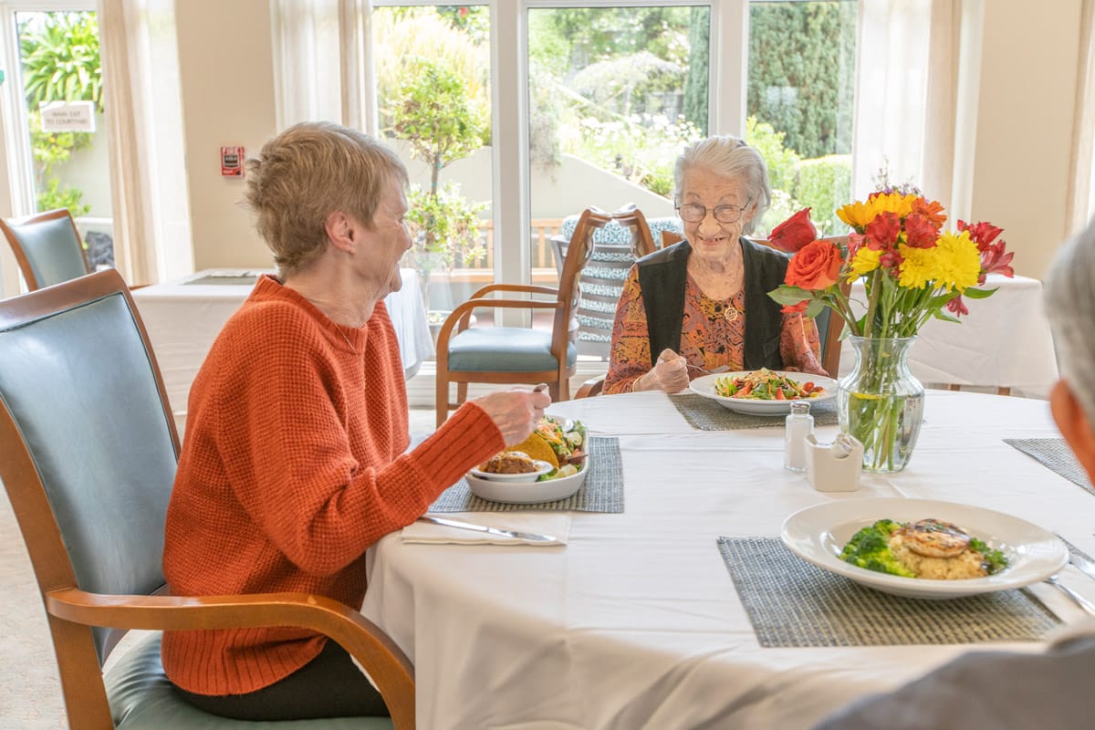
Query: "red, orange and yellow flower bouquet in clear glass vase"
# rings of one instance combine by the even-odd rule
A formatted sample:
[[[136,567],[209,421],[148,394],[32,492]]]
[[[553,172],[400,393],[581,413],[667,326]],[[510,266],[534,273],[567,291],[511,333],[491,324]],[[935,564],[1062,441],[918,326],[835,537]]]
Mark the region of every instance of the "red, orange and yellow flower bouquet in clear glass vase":
[[[804,216],[805,212],[805,216]],[[874,193],[837,216],[848,236],[817,239],[809,210],[772,231],[776,247],[793,253],[784,283],[769,293],[784,312],[809,316],[829,308],[848,326],[855,369],[840,380],[841,429],[864,445],[864,468],[904,468],[920,433],[923,386],[909,371],[909,349],[932,317],[958,322],[964,298],[983,299],[990,273],[1014,276],[1013,253],[991,223],[958,221],[945,231],[943,206],[917,192]],[[851,285],[863,281],[864,301]]]

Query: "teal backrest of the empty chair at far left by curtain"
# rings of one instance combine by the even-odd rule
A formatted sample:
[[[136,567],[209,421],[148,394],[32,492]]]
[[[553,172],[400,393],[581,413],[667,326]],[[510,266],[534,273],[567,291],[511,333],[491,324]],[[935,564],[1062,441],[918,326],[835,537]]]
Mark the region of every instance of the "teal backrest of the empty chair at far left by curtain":
[[[64,208],[18,221],[0,221],[0,230],[31,291],[91,273],[80,233]]]

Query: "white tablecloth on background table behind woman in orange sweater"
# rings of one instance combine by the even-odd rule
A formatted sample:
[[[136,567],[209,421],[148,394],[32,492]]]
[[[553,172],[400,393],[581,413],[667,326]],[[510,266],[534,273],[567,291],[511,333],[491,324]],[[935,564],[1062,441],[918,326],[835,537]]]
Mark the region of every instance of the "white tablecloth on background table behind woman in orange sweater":
[[[186,412],[191,383],[209,354],[214,339],[254,283],[188,283],[207,277],[255,278],[266,271],[214,269],[198,271],[132,292],[152,351],[163,373],[168,401],[177,413]],[[400,340],[400,358],[406,378],[413,376],[424,360],[434,355],[434,340],[426,321],[426,308],[418,289],[418,273],[400,269],[403,287],[384,299]]]

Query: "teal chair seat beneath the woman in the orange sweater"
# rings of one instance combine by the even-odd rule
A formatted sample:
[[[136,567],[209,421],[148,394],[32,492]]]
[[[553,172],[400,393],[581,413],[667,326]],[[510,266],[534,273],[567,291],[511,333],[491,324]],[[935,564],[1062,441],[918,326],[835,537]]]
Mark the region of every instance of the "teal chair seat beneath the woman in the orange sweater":
[[[117,730],[391,730],[388,718],[250,722],[214,717],[178,697],[160,663],[160,635],[142,637],[106,673]]]

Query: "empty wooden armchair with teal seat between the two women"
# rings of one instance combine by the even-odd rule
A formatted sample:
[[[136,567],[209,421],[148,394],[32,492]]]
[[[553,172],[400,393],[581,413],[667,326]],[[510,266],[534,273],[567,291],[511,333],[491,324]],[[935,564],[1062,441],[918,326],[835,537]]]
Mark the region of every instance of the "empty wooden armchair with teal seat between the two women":
[[[437,335],[437,425],[468,398],[469,383],[548,383],[552,401],[570,398],[578,349],[574,310],[579,277],[589,260],[593,231],[611,216],[587,208],[567,245],[558,287],[491,283],[452,311]],[[499,296],[511,294],[512,297]],[[551,331],[533,327],[472,326],[476,309],[522,309],[554,312]],[[450,384],[457,386],[452,402]]]

